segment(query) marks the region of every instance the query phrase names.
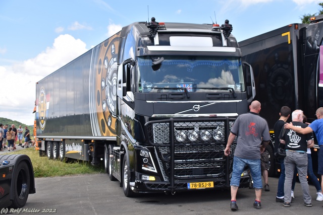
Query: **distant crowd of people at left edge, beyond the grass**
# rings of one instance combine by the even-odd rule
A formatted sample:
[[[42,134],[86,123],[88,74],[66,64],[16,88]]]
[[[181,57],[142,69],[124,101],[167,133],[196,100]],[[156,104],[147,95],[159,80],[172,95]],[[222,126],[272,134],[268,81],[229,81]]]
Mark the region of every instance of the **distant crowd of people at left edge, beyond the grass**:
[[[25,132],[21,125],[19,125],[19,128],[17,129],[14,124],[11,125],[11,127],[6,124],[3,125],[0,123],[0,151],[3,152],[5,149],[10,151],[15,151],[16,143],[18,146],[28,148],[29,142],[31,143],[32,147],[35,146],[35,141],[30,138],[30,131],[27,126],[25,126]],[[24,138],[24,143],[22,142]],[[8,143],[8,145],[7,145]]]

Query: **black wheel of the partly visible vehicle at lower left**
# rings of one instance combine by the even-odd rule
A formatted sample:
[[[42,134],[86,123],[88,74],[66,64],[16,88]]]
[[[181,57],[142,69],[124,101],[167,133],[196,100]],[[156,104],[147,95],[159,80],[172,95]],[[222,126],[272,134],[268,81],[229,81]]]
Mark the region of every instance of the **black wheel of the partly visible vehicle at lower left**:
[[[17,177],[14,177],[15,181],[13,181],[14,198],[11,207],[20,208],[25,206],[30,188],[29,168],[26,162],[20,162],[18,166],[15,167],[15,174],[18,175]]]

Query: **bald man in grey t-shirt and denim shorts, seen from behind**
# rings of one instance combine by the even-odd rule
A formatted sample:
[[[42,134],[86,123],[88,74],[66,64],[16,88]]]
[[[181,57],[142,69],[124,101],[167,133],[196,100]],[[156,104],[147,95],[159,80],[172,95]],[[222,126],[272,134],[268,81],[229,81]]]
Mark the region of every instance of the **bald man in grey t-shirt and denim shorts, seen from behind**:
[[[240,184],[241,174],[244,166],[248,165],[253,179],[256,200],[253,206],[261,208],[261,168],[260,153],[263,153],[270,141],[270,133],[267,121],[259,116],[261,104],[253,101],[249,106],[250,112],[238,116],[228,138],[225,156],[230,155],[230,146],[236,136],[237,146],[233,158],[233,171],[231,176],[231,210],[238,210],[236,195]],[[261,145],[262,142],[262,145]]]

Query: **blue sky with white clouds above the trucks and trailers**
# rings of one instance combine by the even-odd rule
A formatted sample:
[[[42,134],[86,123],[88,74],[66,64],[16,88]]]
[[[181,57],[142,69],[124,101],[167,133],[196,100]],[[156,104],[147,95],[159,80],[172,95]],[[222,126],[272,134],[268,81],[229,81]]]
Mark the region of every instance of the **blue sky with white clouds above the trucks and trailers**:
[[[0,117],[32,125],[36,82],[133,22],[224,24],[238,42],[301,23],[323,0],[0,0]],[[0,122],[1,123],[1,122]]]

